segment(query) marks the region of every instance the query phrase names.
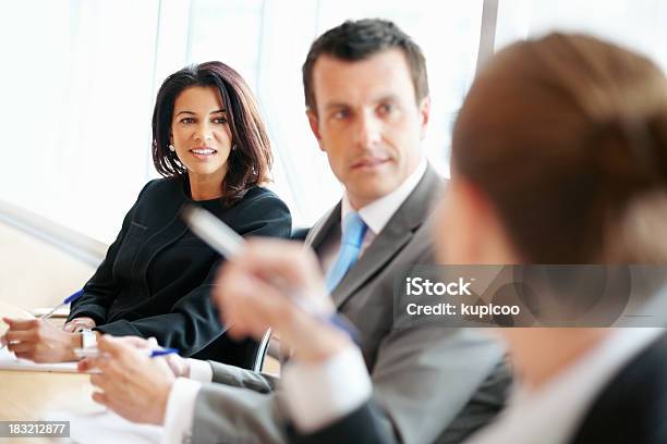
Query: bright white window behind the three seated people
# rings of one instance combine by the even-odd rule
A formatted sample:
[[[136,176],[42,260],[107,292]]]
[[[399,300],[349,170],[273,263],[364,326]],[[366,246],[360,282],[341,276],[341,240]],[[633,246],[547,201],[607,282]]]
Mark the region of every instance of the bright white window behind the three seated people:
[[[221,60],[258,97],[275,148],[274,188],[295,225],[312,224],[341,188],[307,125],[301,65],[317,35],[361,17],[393,20],[422,46],[433,100],[423,147],[448,175],[451,124],[474,76],[483,5],[495,3],[496,48],[554,28],[583,30],[644,51],[667,69],[662,0],[3,3],[0,200],[111,242],[143,184],[156,176],[150,116],[160,83],[185,64]]]

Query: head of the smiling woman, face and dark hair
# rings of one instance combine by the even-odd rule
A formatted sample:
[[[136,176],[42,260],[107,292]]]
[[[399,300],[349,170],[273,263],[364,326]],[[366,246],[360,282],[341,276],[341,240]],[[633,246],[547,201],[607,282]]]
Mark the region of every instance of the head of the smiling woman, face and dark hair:
[[[206,153],[206,148],[218,152]],[[270,143],[243,77],[220,62],[170,75],[153,112],[153,160],[166,177],[187,175],[189,185],[196,184],[196,193],[205,180],[208,185],[203,186],[203,193],[219,193],[227,205],[243,197],[248,185],[266,182],[272,163]],[[202,160],[207,163],[198,162]],[[220,166],[217,175],[208,176],[206,172],[215,165]]]

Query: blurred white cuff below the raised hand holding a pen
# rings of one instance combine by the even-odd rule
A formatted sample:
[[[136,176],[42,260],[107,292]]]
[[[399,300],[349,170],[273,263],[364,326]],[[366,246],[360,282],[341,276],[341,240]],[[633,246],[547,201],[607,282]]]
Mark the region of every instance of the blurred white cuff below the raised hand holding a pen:
[[[356,347],[322,363],[291,360],[281,383],[289,417],[301,433],[315,432],[351,414],[373,392],[364,358]]]

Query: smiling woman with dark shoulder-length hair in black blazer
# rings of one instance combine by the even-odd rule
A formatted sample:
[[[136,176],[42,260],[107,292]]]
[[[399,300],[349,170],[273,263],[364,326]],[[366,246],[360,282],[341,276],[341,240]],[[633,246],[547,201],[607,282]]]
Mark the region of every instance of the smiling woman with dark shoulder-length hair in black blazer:
[[[190,203],[243,236],[290,236],[287,206],[263,187],[271,150],[243,78],[221,62],[170,75],[153,114],[153,158],[165,178],[140,193],[104,262],[72,304],[64,331],[39,320],[12,323],[4,340],[17,356],[73,360],[74,348],[95,342],[94,330],[156,337],[183,356],[252,365],[256,343],[228,340],[209,298],[223,258],[180,218]]]

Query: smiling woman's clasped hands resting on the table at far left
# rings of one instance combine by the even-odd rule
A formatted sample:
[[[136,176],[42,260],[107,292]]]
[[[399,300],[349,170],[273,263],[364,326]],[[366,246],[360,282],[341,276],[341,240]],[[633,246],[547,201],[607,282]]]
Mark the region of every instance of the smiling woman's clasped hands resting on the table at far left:
[[[35,362],[76,360],[74,348],[81,347],[81,335],[58,329],[41,319],[17,320],[2,318],[9,330],[2,344],[17,358]]]

